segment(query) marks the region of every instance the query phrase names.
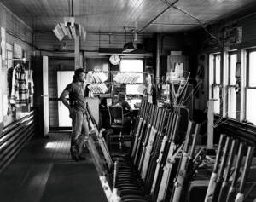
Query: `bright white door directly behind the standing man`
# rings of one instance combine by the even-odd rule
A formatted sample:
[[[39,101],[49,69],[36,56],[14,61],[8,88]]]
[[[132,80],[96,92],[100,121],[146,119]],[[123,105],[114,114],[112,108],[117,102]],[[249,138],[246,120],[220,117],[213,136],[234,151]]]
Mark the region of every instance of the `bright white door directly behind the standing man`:
[[[60,97],[63,89],[66,88],[67,84],[70,84],[73,80],[73,71],[58,71],[57,72],[57,87],[58,97]],[[59,127],[71,127],[71,118],[69,118],[69,111],[61,101],[58,101],[58,112],[59,112]]]

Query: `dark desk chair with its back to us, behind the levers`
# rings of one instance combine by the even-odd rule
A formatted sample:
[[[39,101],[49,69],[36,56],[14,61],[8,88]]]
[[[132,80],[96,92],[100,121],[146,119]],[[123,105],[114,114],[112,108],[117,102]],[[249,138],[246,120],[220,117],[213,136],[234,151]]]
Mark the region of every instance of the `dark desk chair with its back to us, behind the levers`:
[[[119,137],[119,149],[122,149],[122,130],[124,129],[124,112],[121,106],[109,106],[108,107],[110,127],[113,130],[118,129],[119,135],[112,135],[111,137]],[[110,147],[110,137],[108,137],[108,147]]]

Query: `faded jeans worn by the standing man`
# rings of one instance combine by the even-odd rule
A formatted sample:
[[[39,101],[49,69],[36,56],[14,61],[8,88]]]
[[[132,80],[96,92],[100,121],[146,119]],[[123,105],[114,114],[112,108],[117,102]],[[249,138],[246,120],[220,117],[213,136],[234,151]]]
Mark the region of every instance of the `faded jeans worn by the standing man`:
[[[71,136],[71,148],[74,148],[79,155],[83,152],[86,136],[89,134],[88,121],[85,113],[74,110],[70,114],[72,118],[73,134]]]

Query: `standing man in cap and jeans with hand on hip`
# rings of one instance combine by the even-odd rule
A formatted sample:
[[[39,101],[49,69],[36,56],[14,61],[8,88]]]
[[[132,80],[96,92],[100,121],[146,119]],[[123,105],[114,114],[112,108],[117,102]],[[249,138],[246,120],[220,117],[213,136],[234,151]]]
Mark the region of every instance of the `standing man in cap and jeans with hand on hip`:
[[[69,110],[69,117],[72,118],[73,133],[71,136],[70,153],[72,159],[82,159],[84,142],[89,134],[88,117],[86,113],[85,96],[88,90],[85,88],[84,80],[86,73],[83,68],[75,70],[73,82],[68,84],[60,96],[60,100]],[[69,102],[67,101],[69,95]]]

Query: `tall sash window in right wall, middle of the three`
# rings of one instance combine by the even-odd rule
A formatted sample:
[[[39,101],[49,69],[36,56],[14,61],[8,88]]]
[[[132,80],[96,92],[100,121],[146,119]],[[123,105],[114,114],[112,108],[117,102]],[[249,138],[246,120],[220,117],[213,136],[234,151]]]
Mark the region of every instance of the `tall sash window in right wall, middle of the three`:
[[[236,61],[237,53],[229,53],[229,72],[228,72],[228,85],[227,85],[227,115],[229,118],[236,119]]]

